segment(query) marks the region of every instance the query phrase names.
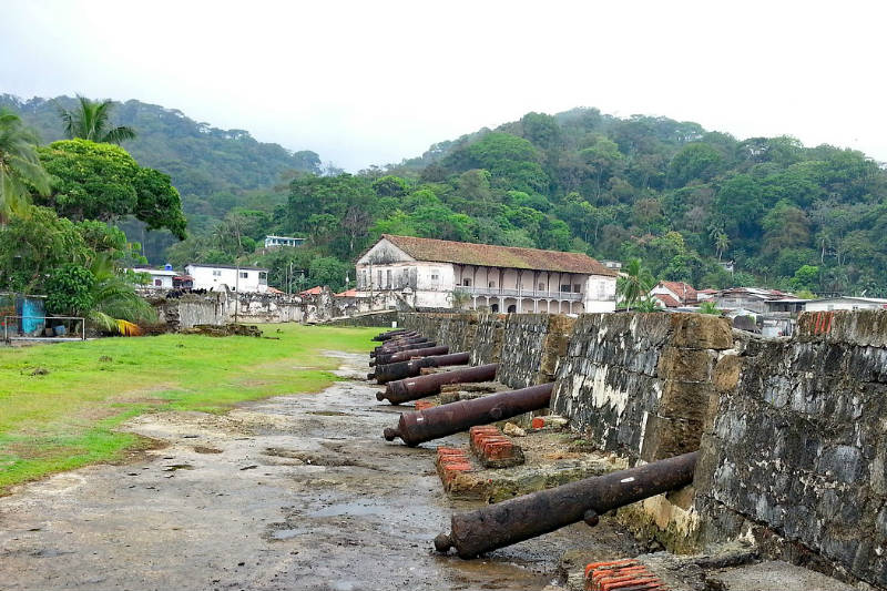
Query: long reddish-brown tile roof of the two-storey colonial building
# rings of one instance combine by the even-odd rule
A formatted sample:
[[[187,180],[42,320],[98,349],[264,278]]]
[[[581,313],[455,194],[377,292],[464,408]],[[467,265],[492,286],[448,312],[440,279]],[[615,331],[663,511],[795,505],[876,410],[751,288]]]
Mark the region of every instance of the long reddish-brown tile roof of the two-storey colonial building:
[[[391,234],[383,234],[381,237],[417,261],[616,276],[615,272],[581,253],[493,246],[491,244],[471,244],[467,242],[417,238],[414,236],[395,236]]]

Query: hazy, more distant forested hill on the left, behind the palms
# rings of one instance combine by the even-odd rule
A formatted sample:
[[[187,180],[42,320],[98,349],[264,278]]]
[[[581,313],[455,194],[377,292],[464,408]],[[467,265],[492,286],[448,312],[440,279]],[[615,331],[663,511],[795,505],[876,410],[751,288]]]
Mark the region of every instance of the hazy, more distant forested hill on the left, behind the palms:
[[[23,101],[0,94],[0,109],[18,113],[43,143],[64,137],[59,109],[71,109],[71,96]],[[188,119],[181,111],[136,100],[114,103],[112,119],[137,133],[124,147],[142,165],[169,174],[182,195],[188,233],[210,232],[236,206],[272,210],[286,201],[285,190],[274,190],[282,179],[297,173],[322,173],[319,156],[310,151],[292,153],[278,144],[262,143],[244,130],[220,130]],[[142,242],[155,262],[175,242],[166,232],[144,232],[142,224],[121,223],[131,240]]]

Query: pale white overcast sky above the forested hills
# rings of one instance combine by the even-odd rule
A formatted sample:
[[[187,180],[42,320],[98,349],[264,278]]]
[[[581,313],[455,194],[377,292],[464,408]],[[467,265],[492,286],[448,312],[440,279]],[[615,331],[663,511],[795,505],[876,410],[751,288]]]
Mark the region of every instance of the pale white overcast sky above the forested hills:
[[[529,111],[887,161],[887,2],[0,2],[0,93],[180,109],[356,171]]]

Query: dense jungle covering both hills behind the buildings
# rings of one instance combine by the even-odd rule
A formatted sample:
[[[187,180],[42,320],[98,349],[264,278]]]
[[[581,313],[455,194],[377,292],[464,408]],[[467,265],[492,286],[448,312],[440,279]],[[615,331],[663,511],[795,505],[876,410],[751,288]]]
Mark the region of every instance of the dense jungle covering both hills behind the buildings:
[[[852,150],[575,109],[528,113],[350,175],[330,174],[313,152],[137,101],[119,114],[140,133],[126,149],[172,176],[188,218],[188,238],[169,240],[163,254],[155,233],[145,241],[124,226],[156,263],[239,259],[271,267],[282,288],[296,277],[292,287],[338,289],[359,253],[395,233],[640,258],[657,279],[701,288],[887,296],[887,171]],[[266,234],[308,242],[265,252]],[[720,264],[731,261],[734,273]]]

